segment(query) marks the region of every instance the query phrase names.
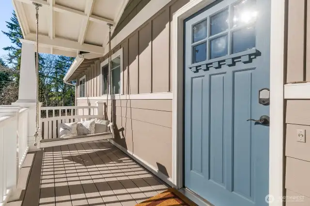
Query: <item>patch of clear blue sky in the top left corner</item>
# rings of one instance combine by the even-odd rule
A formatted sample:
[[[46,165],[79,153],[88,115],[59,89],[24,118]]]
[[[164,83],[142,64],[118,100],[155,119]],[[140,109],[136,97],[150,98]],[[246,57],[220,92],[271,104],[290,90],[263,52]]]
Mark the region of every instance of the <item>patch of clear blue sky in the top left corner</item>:
[[[0,0],[1,6],[0,6],[0,30],[2,31],[8,31],[6,28],[6,21],[10,21],[10,18],[12,16],[12,12],[14,10],[12,1],[11,0]],[[11,45],[10,39],[5,36],[2,32],[0,32],[0,58],[3,55],[6,55],[7,52],[4,51],[2,48],[5,46]]]

